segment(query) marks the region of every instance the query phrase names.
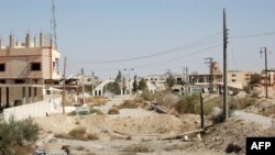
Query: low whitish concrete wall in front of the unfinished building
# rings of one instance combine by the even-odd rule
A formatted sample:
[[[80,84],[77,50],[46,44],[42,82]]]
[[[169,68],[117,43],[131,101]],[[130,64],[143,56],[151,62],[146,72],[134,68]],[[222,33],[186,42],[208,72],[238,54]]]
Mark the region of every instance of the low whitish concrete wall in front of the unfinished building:
[[[8,121],[11,117],[14,117],[15,120],[23,120],[30,117],[46,117],[46,114],[62,111],[61,101],[62,99],[57,98],[52,100],[52,102],[41,101],[20,107],[8,108],[3,110],[3,117],[6,121]]]

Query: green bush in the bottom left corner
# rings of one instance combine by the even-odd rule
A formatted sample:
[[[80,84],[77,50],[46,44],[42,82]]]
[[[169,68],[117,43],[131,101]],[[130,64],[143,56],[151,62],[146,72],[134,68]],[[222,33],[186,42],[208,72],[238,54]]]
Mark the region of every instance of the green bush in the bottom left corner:
[[[29,154],[37,140],[40,128],[31,119],[0,122],[0,155]]]

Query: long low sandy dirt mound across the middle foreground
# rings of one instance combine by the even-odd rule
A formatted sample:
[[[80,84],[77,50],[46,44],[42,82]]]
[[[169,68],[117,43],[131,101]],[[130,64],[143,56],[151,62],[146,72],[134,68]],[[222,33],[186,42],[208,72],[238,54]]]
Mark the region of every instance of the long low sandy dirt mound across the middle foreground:
[[[87,133],[105,135],[107,133],[136,134],[170,134],[180,131],[183,123],[178,118],[167,114],[145,117],[108,117],[55,114],[36,118],[35,122],[45,133],[68,133],[76,128],[85,128]],[[106,139],[106,137],[102,137]]]

